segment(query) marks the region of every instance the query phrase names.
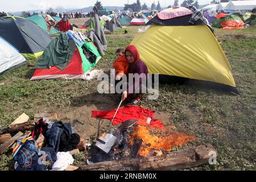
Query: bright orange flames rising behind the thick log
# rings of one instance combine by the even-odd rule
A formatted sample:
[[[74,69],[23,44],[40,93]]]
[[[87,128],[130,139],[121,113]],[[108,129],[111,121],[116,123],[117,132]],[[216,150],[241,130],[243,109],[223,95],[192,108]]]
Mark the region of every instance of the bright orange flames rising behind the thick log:
[[[130,144],[133,144],[134,138],[142,139],[142,145],[138,153],[141,156],[147,156],[153,148],[171,151],[172,146],[182,146],[195,140],[195,137],[186,134],[167,133],[166,131],[163,132],[159,129],[139,125],[134,127],[131,132]]]

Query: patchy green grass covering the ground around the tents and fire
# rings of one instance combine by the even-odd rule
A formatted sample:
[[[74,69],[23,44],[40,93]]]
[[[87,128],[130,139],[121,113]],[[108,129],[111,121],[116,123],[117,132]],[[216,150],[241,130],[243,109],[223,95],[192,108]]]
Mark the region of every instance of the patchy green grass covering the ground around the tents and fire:
[[[108,49],[97,69],[109,72],[114,51],[126,47],[137,29],[126,27],[106,35]],[[124,30],[128,34],[123,35]],[[168,123],[179,131],[195,135],[196,141],[181,148],[211,143],[218,151],[216,165],[204,165],[190,170],[256,170],[256,28],[243,30],[215,29],[218,42],[228,57],[239,95],[189,85],[159,85],[158,100],[143,100],[142,105],[170,114]],[[73,98],[97,92],[97,80],[41,80],[29,81],[34,70],[27,65],[0,76],[0,128],[7,127],[23,112],[29,117],[41,112],[68,108]],[[85,153],[75,157],[80,164]],[[0,157],[0,170],[13,170],[11,151]]]

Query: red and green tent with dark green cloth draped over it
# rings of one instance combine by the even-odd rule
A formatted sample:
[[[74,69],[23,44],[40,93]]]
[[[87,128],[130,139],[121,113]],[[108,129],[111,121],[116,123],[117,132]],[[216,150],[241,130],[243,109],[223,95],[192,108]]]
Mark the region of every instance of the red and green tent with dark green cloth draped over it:
[[[73,39],[68,40],[65,33],[61,33],[36,62],[36,70],[30,80],[85,79],[86,73],[96,67],[100,59],[100,53],[92,42],[79,46]]]

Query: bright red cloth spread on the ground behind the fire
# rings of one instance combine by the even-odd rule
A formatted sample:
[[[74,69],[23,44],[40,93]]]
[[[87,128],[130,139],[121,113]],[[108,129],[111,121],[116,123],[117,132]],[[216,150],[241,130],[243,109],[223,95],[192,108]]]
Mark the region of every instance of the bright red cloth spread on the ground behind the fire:
[[[92,117],[110,119],[111,121],[112,118],[114,117],[116,110],[117,109],[109,110],[109,111],[93,110]],[[144,109],[143,107],[140,107],[140,106],[125,105],[123,107],[120,107],[119,110],[117,111],[117,114],[115,115],[115,118],[113,120],[113,125],[118,125],[119,123],[125,122],[128,119],[136,119],[136,120],[143,119],[146,123],[147,117],[150,117],[152,119],[152,121],[150,122],[150,126],[158,127],[159,129],[164,129],[163,123],[157,119],[154,119],[154,114],[155,114],[154,110]]]

